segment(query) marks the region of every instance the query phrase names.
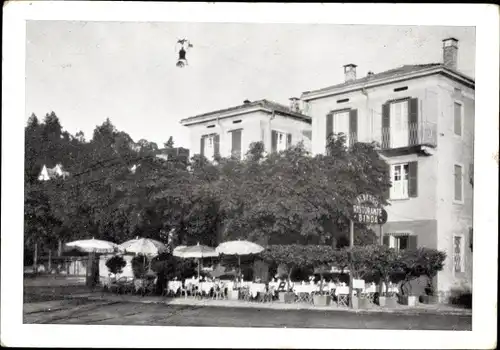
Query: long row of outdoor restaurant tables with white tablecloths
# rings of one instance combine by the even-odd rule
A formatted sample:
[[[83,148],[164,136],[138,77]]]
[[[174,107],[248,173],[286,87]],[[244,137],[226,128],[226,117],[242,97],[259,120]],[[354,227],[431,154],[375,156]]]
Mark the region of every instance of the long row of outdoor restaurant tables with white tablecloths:
[[[393,286],[389,286],[389,288],[393,288]],[[341,282],[338,279],[335,281],[323,279],[323,286],[321,286],[321,281],[315,281],[314,276],[310,276],[308,281],[290,282],[289,284],[286,280],[276,277],[269,282],[263,282],[260,279],[256,279],[255,281],[223,280],[209,276],[193,276],[192,278],[185,279],[183,282],[175,278],[173,281],[168,282],[164,294],[185,297],[188,295],[200,297],[220,296],[222,299],[225,299],[229,291],[233,289],[238,289],[241,295],[247,295],[250,299],[267,295],[271,296],[271,300],[277,298],[279,292],[286,291],[295,293],[299,300],[308,300],[308,298],[300,298],[300,296],[310,297],[315,293],[321,292],[321,290],[323,293],[328,293],[332,296],[349,294],[349,285],[345,282]],[[370,294],[376,291],[377,285],[370,283],[365,286],[362,293]]]

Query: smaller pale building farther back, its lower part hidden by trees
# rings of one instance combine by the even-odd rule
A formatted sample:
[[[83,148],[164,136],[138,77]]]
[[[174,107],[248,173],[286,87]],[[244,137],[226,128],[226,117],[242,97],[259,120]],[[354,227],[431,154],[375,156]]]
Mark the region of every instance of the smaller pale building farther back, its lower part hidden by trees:
[[[290,107],[259,100],[181,120],[190,129],[191,150],[212,160],[242,158],[253,142],[265,152],[281,151],[303,142],[311,150],[311,118],[300,112],[297,99]]]

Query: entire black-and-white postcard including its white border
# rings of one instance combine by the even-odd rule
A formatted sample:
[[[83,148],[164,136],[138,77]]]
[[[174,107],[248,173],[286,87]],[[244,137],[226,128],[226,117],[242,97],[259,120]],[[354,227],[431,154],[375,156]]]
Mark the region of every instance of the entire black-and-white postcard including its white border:
[[[2,335],[16,285],[13,344],[31,327],[24,341],[40,347],[35,334],[48,344],[80,333],[72,346],[86,346],[76,337],[94,329],[104,347],[268,337],[267,347],[308,347],[294,332],[336,332],[309,347],[411,348],[433,332],[420,347],[495,347],[498,81],[481,100],[476,76],[482,91],[485,72],[498,80],[498,33],[485,37],[478,18],[238,20],[237,4],[219,20],[211,9],[223,4],[201,3],[147,20],[154,6],[183,4],[144,3],[137,18],[141,3],[129,5],[126,19],[109,8],[109,20],[85,18],[75,3],[71,16],[18,25],[17,141],[2,142],[2,178],[16,178],[15,193],[2,181]],[[490,69],[479,44],[493,46]],[[480,318],[491,327],[482,343]],[[136,330],[153,335],[112,343]],[[402,339],[384,342],[387,331]],[[179,332],[183,345],[160,339]],[[363,332],[376,344],[357,345]]]

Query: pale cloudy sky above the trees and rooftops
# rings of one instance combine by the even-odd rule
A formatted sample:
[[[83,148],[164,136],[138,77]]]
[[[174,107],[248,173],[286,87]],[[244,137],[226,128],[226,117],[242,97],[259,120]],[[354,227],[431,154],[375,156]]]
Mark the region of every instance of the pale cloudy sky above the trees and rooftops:
[[[442,62],[459,40],[458,70],[474,77],[474,27],[334,24],[27,21],[26,111],[54,111],[88,138],[106,118],[134,141],[189,148],[180,120],[245,99],[288,104],[303,91],[404,64]],[[176,42],[189,39],[188,66]]]

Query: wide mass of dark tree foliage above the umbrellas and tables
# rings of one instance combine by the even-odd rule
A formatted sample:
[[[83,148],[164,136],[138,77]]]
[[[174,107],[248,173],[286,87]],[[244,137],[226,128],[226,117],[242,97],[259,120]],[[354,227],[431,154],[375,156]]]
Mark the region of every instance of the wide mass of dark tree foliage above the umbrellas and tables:
[[[64,131],[54,112],[43,122],[33,115],[25,136],[25,242],[166,241],[174,232],[173,245],[242,238],[342,246],[355,196],[369,192],[383,202],[390,184],[373,145],[347,149],[343,138],[329,140],[330,155],[312,157],[301,144],[266,154],[257,142],[241,160],[210,163],[195,155],[186,164],[156,157],[172,151],[172,137],[161,150],[145,139],[134,142],[109,119],[86,140]],[[57,163],[69,178],[40,183],[42,166]],[[355,226],[356,244],[373,237],[366,226]]]

